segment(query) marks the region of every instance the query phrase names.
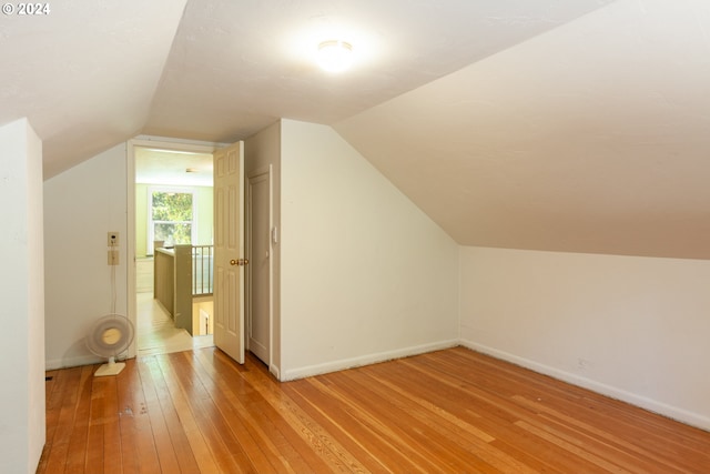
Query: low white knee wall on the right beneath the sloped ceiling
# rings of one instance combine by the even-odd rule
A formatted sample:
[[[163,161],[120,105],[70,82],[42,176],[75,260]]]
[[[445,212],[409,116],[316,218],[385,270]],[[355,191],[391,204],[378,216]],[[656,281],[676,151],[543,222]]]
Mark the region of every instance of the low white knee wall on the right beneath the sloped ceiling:
[[[710,428],[710,262],[462,248],[465,345]]]

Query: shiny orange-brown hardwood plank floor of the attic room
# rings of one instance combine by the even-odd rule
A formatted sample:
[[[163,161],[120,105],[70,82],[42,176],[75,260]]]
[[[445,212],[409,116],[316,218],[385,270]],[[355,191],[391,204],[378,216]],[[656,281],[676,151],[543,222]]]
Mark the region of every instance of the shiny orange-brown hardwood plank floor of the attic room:
[[[278,383],[214,347],[48,372],[38,473],[709,473],[710,433],[463,347]]]

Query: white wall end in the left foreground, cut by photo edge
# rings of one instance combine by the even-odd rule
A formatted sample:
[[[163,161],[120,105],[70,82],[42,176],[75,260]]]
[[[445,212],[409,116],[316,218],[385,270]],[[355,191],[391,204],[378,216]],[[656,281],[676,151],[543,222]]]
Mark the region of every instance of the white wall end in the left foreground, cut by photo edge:
[[[26,119],[0,128],[0,472],[33,473],[44,431],[42,142]]]

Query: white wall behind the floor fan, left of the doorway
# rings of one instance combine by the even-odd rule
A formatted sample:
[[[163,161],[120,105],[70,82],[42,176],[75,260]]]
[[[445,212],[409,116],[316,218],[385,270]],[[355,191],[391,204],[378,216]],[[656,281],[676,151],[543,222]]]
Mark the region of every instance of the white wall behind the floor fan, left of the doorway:
[[[84,336],[112,309],[106,233],[113,231],[120,232],[115,310],[126,314],[125,152],[120,144],[44,182],[48,369],[101,361]]]

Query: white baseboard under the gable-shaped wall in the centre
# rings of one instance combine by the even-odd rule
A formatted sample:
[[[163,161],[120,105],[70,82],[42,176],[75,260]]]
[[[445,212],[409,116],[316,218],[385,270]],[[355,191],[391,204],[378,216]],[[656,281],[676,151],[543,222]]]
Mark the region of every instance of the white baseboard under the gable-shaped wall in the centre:
[[[328,372],[344,371],[346,369],[359,367],[378,362],[392,361],[393,359],[408,357],[410,355],[424,354],[426,352],[449,349],[459,345],[458,340],[442,341],[433,344],[424,344],[412,347],[398,349],[395,351],[379,352],[375,354],[361,355],[352,359],[326,362],[323,364],[308,365],[305,367],[290,369],[283,372],[282,382],[304,379],[312,375],[325,374]]]

